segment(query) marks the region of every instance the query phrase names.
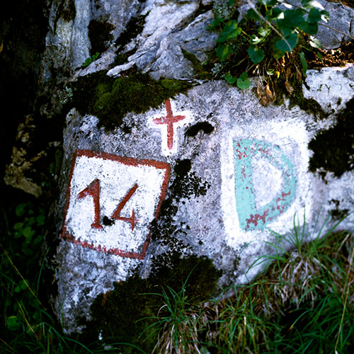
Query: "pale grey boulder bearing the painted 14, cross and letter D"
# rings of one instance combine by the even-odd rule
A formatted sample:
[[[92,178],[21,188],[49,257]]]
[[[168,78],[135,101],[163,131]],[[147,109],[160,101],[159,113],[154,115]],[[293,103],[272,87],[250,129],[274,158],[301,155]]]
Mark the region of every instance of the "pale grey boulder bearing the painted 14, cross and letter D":
[[[57,204],[55,309],[65,331],[84,330],[78,319],[90,318],[98,295],[132,274],[147,277],[156,260],[207,256],[226,287],[260,270],[249,267],[271,252],[270,230],[289,234],[297,215],[311,238],[327,217],[323,232],[338,222],[338,212],[353,210],[354,166],[341,176],[326,173],[326,181],[309,172],[316,157],[309,143],[353,105],[353,77],[353,67],[309,72],[307,98],[321,94],[316,82],[329,88],[321,99],[334,112],[321,121],[287,102],[265,108],[252,90],[224,81],[128,113],[112,132],[73,108]],[[339,227],[353,224],[349,215]]]

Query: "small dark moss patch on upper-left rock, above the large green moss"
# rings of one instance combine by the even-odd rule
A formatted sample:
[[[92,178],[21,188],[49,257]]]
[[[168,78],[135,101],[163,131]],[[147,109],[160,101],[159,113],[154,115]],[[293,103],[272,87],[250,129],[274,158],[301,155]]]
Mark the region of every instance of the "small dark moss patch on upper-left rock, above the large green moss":
[[[91,41],[90,54],[96,52],[103,53],[107,49],[107,42],[113,40],[111,32],[115,29],[114,25],[108,22],[91,20],[89,23],[89,38]]]

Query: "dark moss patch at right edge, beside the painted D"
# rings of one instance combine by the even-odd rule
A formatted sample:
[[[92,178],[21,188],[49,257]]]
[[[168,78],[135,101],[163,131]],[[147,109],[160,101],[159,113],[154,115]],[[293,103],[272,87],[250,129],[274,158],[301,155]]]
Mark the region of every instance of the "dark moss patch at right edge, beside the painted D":
[[[314,152],[309,160],[309,171],[318,172],[322,178],[327,172],[341,177],[354,169],[354,98],[338,114],[337,124],[316,134],[309,142]]]

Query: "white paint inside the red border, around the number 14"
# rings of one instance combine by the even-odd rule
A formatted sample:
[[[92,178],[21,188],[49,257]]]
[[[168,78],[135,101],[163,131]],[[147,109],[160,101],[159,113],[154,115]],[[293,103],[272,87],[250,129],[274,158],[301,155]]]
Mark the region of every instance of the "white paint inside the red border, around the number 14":
[[[124,158],[122,158],[124,159]],[[149,234],[149,224],[159,205],[161,188],[166,170],[155,166],[129,165],[123,161],[101,157],[77,156],[72,180],[67,215],[64,222],[67,234],[81,244],[87,242],[95,248],[119,249],[126,252],[141,252]],[[95,220],[93,195],[79,198],[79,194],[93,181],[99,181],[99,223],[102,228],[92,227]],[[115,219],[114,224],[104,225],[103,217],[112,219],[120,202],[137,184],[137,189],[127,200],[120,217],[131,218],[134,210],[137,222]],[[113,221],[112,221],[113,222]]]

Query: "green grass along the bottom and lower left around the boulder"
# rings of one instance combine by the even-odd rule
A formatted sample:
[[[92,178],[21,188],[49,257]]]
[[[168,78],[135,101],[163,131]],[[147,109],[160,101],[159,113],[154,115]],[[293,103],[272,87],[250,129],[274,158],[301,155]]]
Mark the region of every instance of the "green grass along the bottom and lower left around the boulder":
[[[46,253],[34,242],[45,213],[18,205],[1,209],[0,353],[146,353],[143,341],[106,346],[64,335],[44,296]],[[273,256],[256,260],[265,270],[234,285],[232,297],[196,302],[185,292],[189,277],[181,290],[166,287],[141,334],[158,334],[152,353],[354,353],[354,235],[319,229],[310,234],[295,217],[292,234],[273,233]]]

